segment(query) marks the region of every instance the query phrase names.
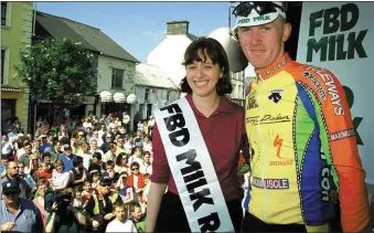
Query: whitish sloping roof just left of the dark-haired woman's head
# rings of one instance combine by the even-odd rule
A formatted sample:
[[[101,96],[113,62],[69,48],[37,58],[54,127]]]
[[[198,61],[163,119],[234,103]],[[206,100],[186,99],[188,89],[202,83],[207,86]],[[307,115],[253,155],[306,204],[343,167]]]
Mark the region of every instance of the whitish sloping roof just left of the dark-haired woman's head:
[[[167,89],[178,89],[178,86],[157,65],[138,64],[136,66],[135,84],[138,86],[152,86]]]

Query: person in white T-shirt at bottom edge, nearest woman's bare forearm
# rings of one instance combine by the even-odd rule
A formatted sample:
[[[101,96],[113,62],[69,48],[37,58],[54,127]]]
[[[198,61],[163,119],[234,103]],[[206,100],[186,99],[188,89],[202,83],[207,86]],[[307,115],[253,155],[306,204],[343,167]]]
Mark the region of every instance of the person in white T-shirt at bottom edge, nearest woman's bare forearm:
[[[114,204],[114,213],[116,219],[108,223],[105,232],[138,232],[133,222],[126,216],[126,206],[122,203]]]

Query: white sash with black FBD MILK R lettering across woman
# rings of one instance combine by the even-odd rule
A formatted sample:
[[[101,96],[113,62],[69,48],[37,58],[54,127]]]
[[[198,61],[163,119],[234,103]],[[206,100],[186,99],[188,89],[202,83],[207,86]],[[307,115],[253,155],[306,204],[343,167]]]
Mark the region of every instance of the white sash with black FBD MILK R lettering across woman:
[[[234,232],[197,120],[185,98],[154,112],[191,232]]]

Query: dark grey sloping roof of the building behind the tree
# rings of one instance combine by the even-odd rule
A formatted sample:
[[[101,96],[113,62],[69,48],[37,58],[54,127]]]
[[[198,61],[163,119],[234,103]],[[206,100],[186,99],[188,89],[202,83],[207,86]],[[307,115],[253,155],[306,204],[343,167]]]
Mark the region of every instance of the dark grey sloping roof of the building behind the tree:
[[[83,47],[97,51],[103,55],[140,63],[97,28],[40,11],[36,12],[36,22],[53,38],[66,38],[74,43],[81,42]]]

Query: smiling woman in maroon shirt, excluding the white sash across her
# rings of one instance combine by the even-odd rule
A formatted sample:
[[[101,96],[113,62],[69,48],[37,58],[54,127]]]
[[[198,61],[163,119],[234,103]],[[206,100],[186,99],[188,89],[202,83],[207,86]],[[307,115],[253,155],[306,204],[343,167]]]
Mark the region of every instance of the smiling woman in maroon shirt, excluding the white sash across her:
[[[225,97],[233,89],[227,55],[216,40],[201,38],[186,49],[184,66],[186,77],[182,80],[181,88],[188,93],[185,99],[196,118],[234,230],[238,232],[243,211],[236,170],[241,149],[248,158],[248,142],[244,109]],[[153,173],[147,208],[147,232],[191,232],[157,125],[152,148]],[[163,194],[167,186],[168,192]]]

